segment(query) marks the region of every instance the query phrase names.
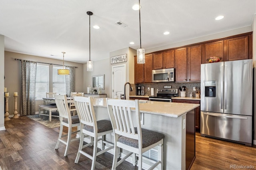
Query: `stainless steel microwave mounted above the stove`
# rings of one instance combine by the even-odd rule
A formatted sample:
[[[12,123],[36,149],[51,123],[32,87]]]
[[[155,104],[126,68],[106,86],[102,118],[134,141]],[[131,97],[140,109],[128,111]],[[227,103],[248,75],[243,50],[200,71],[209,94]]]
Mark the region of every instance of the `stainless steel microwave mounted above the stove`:
[[[174,82],[174,68],[152,70],[152,82]]]

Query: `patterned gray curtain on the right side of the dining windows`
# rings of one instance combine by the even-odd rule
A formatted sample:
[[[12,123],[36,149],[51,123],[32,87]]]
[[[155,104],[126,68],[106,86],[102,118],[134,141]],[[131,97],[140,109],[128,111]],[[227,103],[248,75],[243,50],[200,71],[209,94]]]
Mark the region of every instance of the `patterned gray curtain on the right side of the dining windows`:
[[[69,69],[69,75],[66,75],[66,94],[70,97],[71,92],[75,92],[75,68],[73,66],[67,66]]]

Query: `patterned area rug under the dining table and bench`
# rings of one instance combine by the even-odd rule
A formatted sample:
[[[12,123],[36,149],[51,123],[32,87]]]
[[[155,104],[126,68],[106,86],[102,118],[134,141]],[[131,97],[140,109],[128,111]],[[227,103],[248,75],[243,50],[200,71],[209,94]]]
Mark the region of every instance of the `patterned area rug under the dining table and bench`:
[[[33,119],[34,121],[37,121],[38,123],[41,123],[42,125],[48,127],[48,128],[54,128],[54,127],[60,127],[60,119],[58,117],[52,117],[52,121],[49,121],[48,116],[44,115],[28,115],[30,119]]]

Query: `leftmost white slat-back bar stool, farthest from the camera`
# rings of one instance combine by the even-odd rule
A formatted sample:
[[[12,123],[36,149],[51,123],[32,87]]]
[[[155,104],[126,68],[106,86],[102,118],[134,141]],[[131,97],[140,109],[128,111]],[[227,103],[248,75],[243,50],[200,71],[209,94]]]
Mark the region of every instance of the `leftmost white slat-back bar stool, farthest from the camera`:
[[[64,152],[64,156],[67,156],[70,142],[80,139],[80,138],[71,139],[72,133],[80,132],[80,130],[76,130],[72,132],[72,127],[77,127],[79,129],[80,121],[79,121],[78,115],[71,116],[66,95],[56,95],[55,103],[58,107],[58,111],[60,115],[60,133],[59,133],[59,137],[58,137],[58,141],[55,146],[55,149],[58,149],[60,142],[66,144],[66,150]],[[68,127],[68,134],[62,135],[63,126]],[[67,140],[64,140],[63,138],[64,136],[68,136]]]

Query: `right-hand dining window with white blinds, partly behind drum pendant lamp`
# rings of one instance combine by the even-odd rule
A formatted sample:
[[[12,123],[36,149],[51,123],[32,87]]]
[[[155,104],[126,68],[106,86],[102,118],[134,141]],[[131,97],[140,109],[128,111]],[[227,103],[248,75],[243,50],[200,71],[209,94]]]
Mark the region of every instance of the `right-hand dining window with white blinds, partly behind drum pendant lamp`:
[[[52,69],[52,91],[57,94],[66,95],[66,76],[58,75],[58,69],[63,69],[62,66],[54,65]]]

